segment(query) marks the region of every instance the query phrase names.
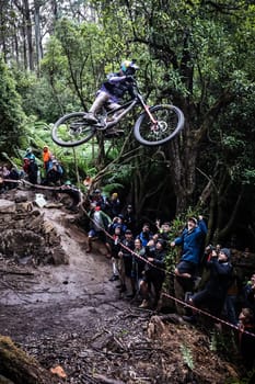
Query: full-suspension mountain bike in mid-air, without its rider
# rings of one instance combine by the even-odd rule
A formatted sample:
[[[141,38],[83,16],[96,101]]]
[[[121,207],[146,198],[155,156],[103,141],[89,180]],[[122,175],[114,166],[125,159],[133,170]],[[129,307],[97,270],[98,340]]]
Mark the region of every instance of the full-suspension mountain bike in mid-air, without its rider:
[[[53,140],[61,147],[76,147],[89,142],[96,133],[107,138],[109,128],[115,127],[129,112],[139,106],[141,112],[134,126],[134,136],[144,146],[159,146],[173,139],[184,127],[184,114],[175,105],[147,105],[138,83],[132,78],[135,98],[114,110],[102,109],[97,122],[85,120],[85,112],[73,112],[60,117],[53,127]]]

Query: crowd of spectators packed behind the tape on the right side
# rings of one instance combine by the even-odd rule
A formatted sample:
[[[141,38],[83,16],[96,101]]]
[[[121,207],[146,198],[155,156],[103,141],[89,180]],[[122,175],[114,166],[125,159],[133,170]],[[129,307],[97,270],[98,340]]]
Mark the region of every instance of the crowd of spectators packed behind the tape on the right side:
[[[169,222],[137,226],[132,205],[121,210],[116,192],[109,199],[98,189],[90,195],[86,251],[92,250],[95,238],[105,244],[113,268],[109,281],[117,283],[120,296],[138,303],[140,308],[159,309],[162,286],[166,275],[171,275],[175,297],[183,303],[182,318],[197,324],[207,313],[216,326],[224,320],[235,327],[244,364],[251,369],[255,337],[245,330],[255,335],[255,273],[246,283],[237,281],[231,250],[221,245],[206,246],[206,235],[207,224],[201,215],[188,217],[179,236],[173,238]],[[179,247],[179,257],[172,271],[166,271],[166,259],[174,247]]]

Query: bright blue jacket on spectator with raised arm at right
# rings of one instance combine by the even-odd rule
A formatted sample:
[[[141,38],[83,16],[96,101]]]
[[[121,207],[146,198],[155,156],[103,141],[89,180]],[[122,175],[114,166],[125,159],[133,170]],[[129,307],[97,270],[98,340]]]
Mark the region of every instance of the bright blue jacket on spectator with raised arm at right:
[[[181,261],[199,263],[206,234],[207,225],[205,221],[199,221],[198,226],[190,231],[187,228],[183,230],[182,235],[174,240],[176,246],[183,247]]]

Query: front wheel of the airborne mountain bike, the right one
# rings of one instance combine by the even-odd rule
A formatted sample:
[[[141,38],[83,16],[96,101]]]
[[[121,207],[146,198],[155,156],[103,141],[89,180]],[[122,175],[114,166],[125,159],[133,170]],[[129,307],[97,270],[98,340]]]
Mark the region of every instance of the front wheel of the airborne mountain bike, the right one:
[[[157,146],[170,142],[184,127],[184,114],[175,105],[155,105],[150,108],[149,114],[143,112],[134,128],[136,139],[142,145]]]

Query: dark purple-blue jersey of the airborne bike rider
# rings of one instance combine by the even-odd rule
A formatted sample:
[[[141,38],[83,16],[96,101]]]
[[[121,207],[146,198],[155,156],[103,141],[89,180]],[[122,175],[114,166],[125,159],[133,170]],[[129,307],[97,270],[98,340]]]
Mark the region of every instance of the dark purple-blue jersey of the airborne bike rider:
[[[128,92],[131,98],[135,98],[132,79],[123,76],[120,72],[109,74],[107,80],[102,84],[100,90],[107,92],[111,95],[111,100],[116,103],[119,99],[123,99],[126,92]]]

